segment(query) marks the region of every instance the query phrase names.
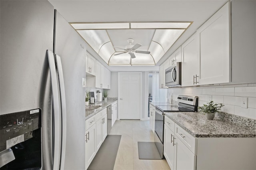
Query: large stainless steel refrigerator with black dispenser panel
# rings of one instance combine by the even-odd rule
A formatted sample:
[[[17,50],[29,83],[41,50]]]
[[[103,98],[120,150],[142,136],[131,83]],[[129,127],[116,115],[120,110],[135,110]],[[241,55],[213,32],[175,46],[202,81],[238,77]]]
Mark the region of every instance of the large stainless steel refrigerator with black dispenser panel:
[[[27,141],[38,138],[41,169],[85,169],[84,40],[46,0],[0,3],[1,134],[20,133],[22,130],[14,130],[16,123],[21,129],[29,129],[23,117],[8,121],[4,116],[26,113],[31,117],[40,113],[37,137],[30,132],[30,137],[23,136],[12,148],[26,149]],[[12,128],[4,125],[7,121]],[[8,150],[10,146],[6,146],[2,136],[1,147]],[[8,169],[7,165],[15,161],[15,158],[5,161],[2,152],[0,161],[7,164],[1,170]]]

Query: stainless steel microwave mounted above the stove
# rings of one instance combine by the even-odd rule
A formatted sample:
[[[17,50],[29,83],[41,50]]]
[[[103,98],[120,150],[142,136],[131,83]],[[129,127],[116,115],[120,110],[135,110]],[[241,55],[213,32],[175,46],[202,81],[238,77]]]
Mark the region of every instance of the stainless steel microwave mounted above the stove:
[[[181,86],[181,62],[165,69],[165,86]]]

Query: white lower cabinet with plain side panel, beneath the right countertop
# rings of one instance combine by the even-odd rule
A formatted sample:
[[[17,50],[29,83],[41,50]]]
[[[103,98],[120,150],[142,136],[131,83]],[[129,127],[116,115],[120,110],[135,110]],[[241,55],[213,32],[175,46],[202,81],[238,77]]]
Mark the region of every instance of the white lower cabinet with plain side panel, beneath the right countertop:
[[[256,169],[256,138],[196,138],[164,119],[164,156],[171,170]]]

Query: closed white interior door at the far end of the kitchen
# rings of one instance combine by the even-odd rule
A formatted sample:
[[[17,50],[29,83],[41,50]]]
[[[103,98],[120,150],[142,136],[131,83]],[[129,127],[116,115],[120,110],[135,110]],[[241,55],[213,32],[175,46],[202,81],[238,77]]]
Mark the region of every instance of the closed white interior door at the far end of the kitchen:
[[[118,73],[118,117],[140,119],[142,97],[142,73]]]

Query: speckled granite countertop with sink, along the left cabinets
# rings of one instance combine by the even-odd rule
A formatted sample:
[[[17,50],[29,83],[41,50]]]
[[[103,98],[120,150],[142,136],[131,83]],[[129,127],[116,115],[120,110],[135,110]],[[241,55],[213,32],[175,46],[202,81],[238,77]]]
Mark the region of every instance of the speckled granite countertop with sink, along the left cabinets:
[[[94,110],[85,111],[85,120],[96,115],[96,113],[102,111],[103,109],[105,109],[106,107],[108,107],[109,105],[117,101],[117,99],[118,99],[117,97],[108,97],[106,101],[102,100],[102,102],[99,102],[99,103],[96,102],[94,104],[90,104],[90,106],[101,106],[101,107]]]

